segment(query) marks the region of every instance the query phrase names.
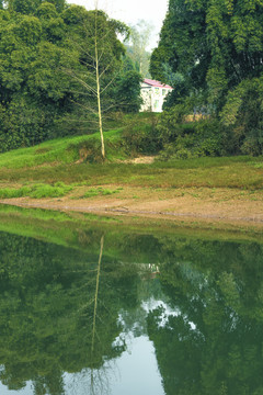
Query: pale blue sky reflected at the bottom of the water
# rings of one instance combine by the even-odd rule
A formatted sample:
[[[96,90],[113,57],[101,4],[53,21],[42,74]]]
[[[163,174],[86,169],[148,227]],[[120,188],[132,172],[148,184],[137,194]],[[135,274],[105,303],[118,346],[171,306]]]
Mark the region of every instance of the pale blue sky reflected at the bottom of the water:
[[[101,374],[93,372],[94,381],[102,380],[99,376],[103,375],[103,383],[95,384],[95,394],[164,395],[152,342],[147,336],[135,338],[132,332],[125,335],[125,340],[128,350],[121,358],[105,362]],[[85,369],[80,373],[65,373],[64,383],[67,395],[91,394],[91,371]],[[8,390],[0,383],[0,394],[33,395],[34,390],[31,382],[19,392]]]

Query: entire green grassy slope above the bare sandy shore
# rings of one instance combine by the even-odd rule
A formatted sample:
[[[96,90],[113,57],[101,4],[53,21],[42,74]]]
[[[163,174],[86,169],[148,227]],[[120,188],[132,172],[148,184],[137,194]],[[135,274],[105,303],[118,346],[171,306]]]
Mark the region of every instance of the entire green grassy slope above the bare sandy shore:
[[[237,188],[248,191],[263,188],[262,158],[206,157],[132,165],[119,162],[125,158],[121,129],[107,132],[105,142],[108,159],[104,163],[78,162],[81,150],[100,153],[98,134],[49,140],[0,155],[0,198],[56,198],[69,192],[73,195],[81,185],[107,184],[156,189]]]

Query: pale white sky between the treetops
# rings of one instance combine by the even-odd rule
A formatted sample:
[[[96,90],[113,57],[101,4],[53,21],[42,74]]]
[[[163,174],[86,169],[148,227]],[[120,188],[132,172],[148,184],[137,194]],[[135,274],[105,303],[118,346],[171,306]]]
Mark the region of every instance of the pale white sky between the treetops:
[[[84,5],[88,10],[94,9],[94,0],[68,0],[69,3]],[[114,19],[129,25],[145,20],[155,26],[151,47],[157,45],[158,34],[168,11],[168,0],[99,0],[99,9],[103,9]]]

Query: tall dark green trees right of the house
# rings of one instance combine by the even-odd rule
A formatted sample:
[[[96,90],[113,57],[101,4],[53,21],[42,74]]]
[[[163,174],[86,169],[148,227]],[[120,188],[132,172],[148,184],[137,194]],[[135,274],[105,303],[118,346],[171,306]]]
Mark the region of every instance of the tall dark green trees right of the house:
[[[231,126],[236,153],[263,153],[262,22],[260,0],[170,0],[151,57],[152,77],[175,88],[169,106]]]

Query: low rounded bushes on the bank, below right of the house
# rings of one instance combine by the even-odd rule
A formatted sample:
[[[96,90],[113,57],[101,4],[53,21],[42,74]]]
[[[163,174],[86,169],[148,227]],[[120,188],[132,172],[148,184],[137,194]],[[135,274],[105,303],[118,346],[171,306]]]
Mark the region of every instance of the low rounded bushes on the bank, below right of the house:
[[[222,126],[215,117],[187,122],[186,109],[178,104],[160,116],[157,129],[161,160],[229,156],[239,151],[239,136],[232,127]]]

